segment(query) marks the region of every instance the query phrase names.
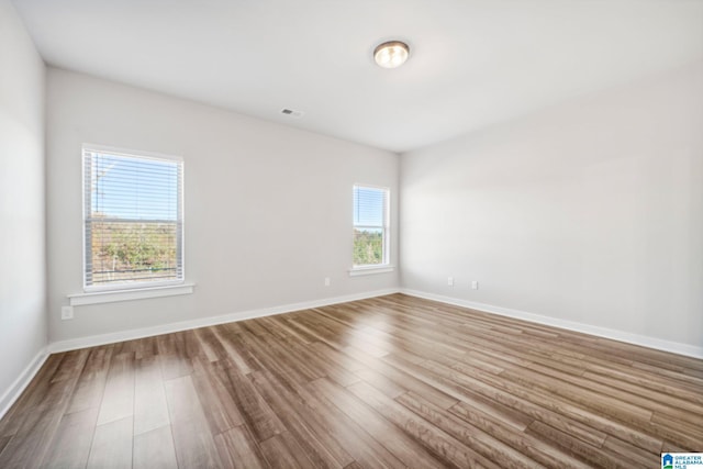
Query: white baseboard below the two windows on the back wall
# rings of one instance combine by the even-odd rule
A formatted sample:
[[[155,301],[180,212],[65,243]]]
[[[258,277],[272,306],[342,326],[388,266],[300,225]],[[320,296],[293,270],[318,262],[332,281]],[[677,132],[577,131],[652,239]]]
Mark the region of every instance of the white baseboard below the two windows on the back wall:
[[[321,300],[303,301],[300,303],[283,304],[280,306],[264,308],[259,310],[239,311],[236,313],[220,316],[202,317],[192,321],[181,321],[178,323],[161,324],[152,327],[121,331],[110,334],[100,334],[88,337],[74,338],[70,340],[54,342],[48,345],[48,351],[56,354],[59,351],[76,350],[78,348],[94,347],[98,345],[113,344],[115,342],[132,340],[135,338],[152,337],[155,335],[168,334],[172,332],[188,331],[198,327],[207,327],[216,324],[231,323],[235,321],[250,320],[254,317],[271,316],[275,314],[291,313],[293,311],[309,310],[311,308],[328,306],[331,304],[346,303],[349,301],[365,300],[367,298],[382,297],[398,293],[400,289],[375,290],[364,293],[347,294],[343,297],[324,298]]]

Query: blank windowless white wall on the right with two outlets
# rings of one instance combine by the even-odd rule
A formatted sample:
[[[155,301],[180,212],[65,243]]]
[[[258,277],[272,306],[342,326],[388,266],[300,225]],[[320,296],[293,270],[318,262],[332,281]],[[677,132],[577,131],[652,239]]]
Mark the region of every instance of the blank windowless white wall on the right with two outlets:
[[[703,354],[703,64],[402,155],[401,258],[411,290]]]

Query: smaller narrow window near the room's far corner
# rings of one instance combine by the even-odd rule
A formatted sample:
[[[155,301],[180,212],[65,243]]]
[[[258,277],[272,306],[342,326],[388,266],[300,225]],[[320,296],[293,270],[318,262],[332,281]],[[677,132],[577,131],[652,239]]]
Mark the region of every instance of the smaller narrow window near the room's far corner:
[[[387,266],[388,189],[354,186],[354,267]]]

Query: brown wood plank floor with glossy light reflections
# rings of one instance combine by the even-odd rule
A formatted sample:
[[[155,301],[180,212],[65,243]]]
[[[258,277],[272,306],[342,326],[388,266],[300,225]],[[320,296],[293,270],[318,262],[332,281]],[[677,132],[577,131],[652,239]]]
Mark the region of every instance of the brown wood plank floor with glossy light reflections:
[[[0,468],[660,467],[703,360],[394,294],[52,355]]]

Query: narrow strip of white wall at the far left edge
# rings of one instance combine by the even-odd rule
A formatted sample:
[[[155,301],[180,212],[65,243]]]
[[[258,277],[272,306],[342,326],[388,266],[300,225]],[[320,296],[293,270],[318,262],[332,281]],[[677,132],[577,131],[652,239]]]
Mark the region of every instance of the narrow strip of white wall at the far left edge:
[[[45,69],[0,0],[0,415],[46,345]]]

